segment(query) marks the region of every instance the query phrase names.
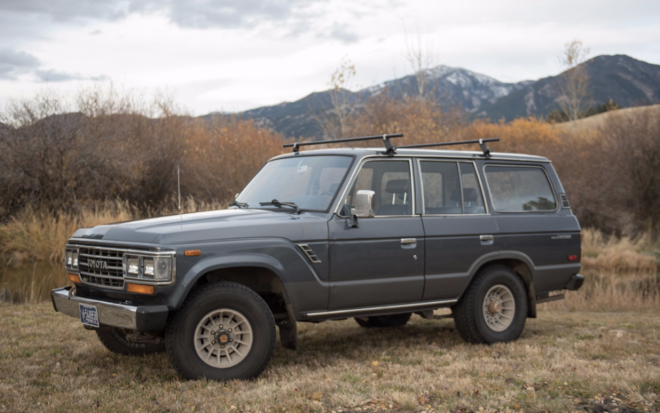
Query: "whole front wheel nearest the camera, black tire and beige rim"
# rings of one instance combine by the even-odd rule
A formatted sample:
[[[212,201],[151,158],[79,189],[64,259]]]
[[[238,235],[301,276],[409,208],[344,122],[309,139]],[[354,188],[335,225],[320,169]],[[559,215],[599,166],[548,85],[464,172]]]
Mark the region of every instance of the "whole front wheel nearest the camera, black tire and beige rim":
[[[275,351],[275,319],[265,301],[244,285],[206,284],[178,310],[165,343],[185,379],[253,379]]]

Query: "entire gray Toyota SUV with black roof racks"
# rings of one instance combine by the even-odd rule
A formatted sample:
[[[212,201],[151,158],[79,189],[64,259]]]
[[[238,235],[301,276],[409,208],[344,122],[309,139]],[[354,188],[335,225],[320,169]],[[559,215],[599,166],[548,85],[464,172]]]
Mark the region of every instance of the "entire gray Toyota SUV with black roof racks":
[[[466,341],[512,341],[551,292],[581,287],[580,226],[548,159],[397,136],[293,144],[223,211],[78,230],[55,310],[115,353],[166,351],[185,378],[227,380],[263,372],[275,326],[295,349],[296,322],[392,327],[451,308]]]

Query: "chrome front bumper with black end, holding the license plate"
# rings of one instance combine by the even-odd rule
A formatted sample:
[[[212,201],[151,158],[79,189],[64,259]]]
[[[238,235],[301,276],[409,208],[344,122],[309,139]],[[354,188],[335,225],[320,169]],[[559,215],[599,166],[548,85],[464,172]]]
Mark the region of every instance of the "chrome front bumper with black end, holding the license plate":
[[[98,322],[105,327],[118,327],[138,332],[159,332],[165,328],[169,310],[167,306],[129,306],[85,299],[76,296],[71,287],[53,289],[51,298],[55,311],[80,318],[79,304],[95,306],[98,309]]]

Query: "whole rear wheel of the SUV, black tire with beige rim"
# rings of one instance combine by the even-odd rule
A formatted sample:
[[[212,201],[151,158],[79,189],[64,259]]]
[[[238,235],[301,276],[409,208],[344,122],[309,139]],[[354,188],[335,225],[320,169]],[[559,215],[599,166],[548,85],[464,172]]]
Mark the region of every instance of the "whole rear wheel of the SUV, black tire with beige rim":
[[[458,333],[469,343],[514,341],[527,320],[527,291],[513,270],[492,265],[477,274],[451,310]]]

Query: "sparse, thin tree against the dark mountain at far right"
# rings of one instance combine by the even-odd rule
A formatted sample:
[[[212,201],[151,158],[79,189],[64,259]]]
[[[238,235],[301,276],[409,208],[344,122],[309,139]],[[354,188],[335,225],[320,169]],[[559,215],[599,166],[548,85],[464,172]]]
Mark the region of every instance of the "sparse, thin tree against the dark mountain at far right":
[[[569,120],[579,119],[586,110],[590,96],[589,74],[585,63],[589,48],[579,40],[565,44],[559,60],[566,71],[562,74],[560,91],[562,96],[557,100]]]

